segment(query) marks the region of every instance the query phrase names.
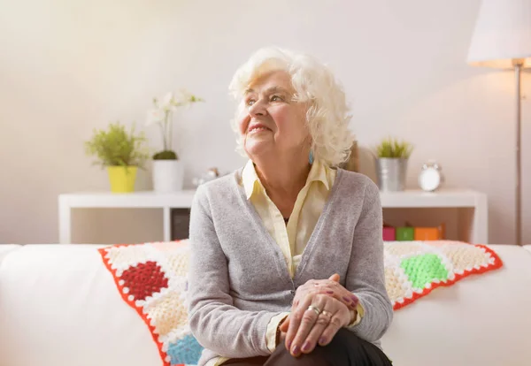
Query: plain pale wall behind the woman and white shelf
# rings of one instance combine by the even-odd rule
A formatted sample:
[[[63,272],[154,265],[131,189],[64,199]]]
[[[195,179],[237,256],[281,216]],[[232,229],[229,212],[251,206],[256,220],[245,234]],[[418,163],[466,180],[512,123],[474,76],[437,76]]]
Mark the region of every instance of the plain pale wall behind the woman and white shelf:
[[[211,166],[223,172],[240,166],[227,84],[252,51],[271,44],[331,65],[362,145],[389,134],[415,144],[411,187],[422,162],[435,158],[448,186],[489,194],[490,241],[512,242],[513,75],[466,65],[479,4],[0,0],[0,242],[57,242],[58,194],[108,189],[83,141],[114,120],[142,124],[151,98],[168,90],[189,88],[207,101],[178,116],[187,183]],[[531,90],[528,74],[524,90]],[[523,118],[528,222],[528,99]],[[148,133],[158,147],[157,131]],[[150,188],[149,171],[141,172],[137,188]],[[118,234],[109,213],[74,218],[74,239],[80,233],[86,241],[140,238]],[[142,240],[159,239],[158,212],[115,218]]]

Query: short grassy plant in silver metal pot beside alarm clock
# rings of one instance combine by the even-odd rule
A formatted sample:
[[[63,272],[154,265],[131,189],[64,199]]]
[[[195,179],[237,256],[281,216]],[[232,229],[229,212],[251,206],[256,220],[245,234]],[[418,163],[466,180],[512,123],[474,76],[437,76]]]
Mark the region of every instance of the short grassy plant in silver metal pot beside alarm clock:
[[[376,177],[381,191],[403,191],[412,144],[386,138],[376,146]]]

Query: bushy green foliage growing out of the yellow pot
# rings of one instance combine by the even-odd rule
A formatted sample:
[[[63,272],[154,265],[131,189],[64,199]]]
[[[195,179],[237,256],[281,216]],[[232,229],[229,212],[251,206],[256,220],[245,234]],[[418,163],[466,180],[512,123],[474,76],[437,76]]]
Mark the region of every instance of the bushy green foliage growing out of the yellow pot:
[[[135,133],[135,126],[130,131],[120,125],[112,123],[107,130],[94,129],[89,141],[85,141],[85,151],[89,156],[96,156],[102,168],[106,166],[137,166],[144,169],[150,154],[144,149],[146,142],[144,133]]]

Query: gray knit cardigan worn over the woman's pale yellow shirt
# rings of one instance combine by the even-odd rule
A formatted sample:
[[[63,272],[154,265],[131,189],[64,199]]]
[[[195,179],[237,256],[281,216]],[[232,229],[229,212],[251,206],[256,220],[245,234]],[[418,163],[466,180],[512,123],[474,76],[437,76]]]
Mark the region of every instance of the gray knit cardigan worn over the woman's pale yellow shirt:
[[[393,310],[378,187],[365,175],[338,169],[292,279],[281,248],[246,199],[241,172],[200,186],[190,212],[189,325],[205,347],[199,366],[217,355],[269,355],[270,319],[289,311],[298,286],[335,272],[366,310],[350,330],[381,347]]]

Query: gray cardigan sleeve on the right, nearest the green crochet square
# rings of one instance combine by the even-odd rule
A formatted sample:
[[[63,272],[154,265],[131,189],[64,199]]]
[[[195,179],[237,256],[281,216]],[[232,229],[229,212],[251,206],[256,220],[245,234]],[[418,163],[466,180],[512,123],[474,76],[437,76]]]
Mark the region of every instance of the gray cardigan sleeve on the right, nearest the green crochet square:
[[[358,296],[364,314],[350,330],[369,342],[381,339],[393,319],[385,286],[380,191],[366,178],[363,205],[354,229],[346,288]]]

